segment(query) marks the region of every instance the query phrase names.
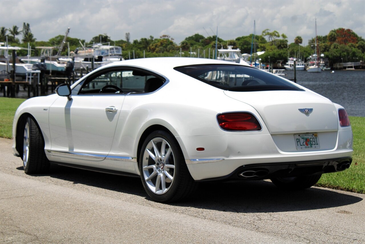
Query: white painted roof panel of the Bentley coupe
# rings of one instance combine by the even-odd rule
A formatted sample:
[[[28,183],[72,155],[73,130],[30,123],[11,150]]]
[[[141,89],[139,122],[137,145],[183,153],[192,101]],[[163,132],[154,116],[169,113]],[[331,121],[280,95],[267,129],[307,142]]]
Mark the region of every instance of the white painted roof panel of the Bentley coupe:
[[[203,58],[190,58],[190,57],[154,57],[145,59],[130,59],[124,61],[114,62],[103,67],[113,67],[120,65],[130,65],[147,68],[154,71],[164,71],[166,69],[173,69],[179,66],[185,65],[197,65],[197,64],[231,64],[240,65],[238,63],[230,61],[222,61],[216,59],[203,59]]]

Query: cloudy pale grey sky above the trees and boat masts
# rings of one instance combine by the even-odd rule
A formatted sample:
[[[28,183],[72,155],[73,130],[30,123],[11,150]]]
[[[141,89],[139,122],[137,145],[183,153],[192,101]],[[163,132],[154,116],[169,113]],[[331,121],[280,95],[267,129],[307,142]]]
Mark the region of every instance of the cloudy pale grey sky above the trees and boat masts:
[[[315,18],[318,35],[343,27],[365,38],[364,0],[0,0],[0,26],[29,23],[37,41],[70,27],[70,37],[86,41],[98,34],[125,40],[129,32],[131,40],[166,34],[179,44],[195,33],[213,35],[217,26],[218,36],[230,40],[251,34],[256,20],[257,34],[277,30],[289,43],[300,35],[306,45]]]

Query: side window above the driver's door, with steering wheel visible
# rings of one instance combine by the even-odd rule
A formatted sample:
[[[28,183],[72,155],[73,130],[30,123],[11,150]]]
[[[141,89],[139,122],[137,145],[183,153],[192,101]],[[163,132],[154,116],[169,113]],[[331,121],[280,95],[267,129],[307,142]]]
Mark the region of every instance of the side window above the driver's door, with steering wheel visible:
[[[147,71],[114,68],[90,76],[75,87],[78,94],[128,94],[150,93],[164,84],[165,80]],[[77,88],[77,89],[76,89]]]

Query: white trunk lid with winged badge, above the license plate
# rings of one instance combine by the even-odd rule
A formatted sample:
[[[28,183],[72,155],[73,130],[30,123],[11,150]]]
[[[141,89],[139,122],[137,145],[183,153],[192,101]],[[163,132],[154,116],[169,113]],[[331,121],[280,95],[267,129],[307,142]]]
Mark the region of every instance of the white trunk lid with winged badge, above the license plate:
[[[224,94],[253,106],[264,120],[270,134],[338,129],[334,104],[311,91],[224,91]]]

